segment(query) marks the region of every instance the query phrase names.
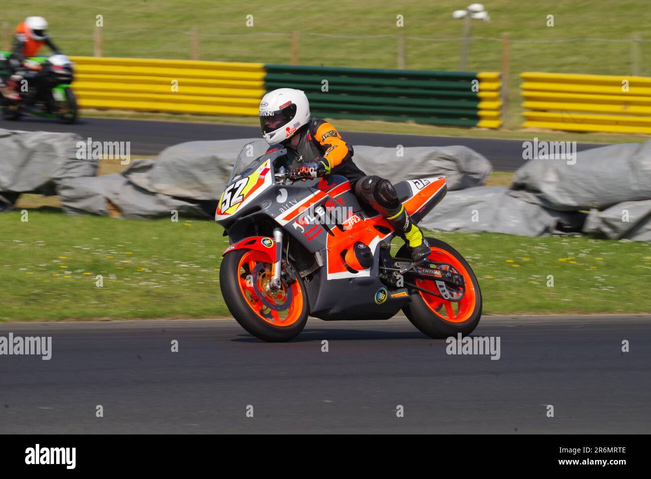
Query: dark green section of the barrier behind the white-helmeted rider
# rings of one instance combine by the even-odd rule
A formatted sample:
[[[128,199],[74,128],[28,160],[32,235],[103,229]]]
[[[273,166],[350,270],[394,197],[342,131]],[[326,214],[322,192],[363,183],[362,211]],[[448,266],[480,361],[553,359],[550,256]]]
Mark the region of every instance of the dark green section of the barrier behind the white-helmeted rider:
[[[314,115],[477,126],[477,72],[265,65],[264,87],[307,94]],[[324,91],[327,80],[327,91]]]

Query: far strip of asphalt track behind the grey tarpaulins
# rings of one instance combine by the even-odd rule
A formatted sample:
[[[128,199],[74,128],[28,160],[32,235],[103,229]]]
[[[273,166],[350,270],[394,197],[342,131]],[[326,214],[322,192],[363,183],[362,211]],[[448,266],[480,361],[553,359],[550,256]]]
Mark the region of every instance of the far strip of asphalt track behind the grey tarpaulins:
[[[159,122],[145,120],[122,120],[113,118],[80,118],[79,124],[65,125],[53,120],[21,118],[18,122],[0,122],[0,128],[27,131],[74,131],[93,141],[130,141],[134,155],[157,155],[161,150],[184,141],[226,140],[260,137],[260,129],[254,126],[206,124],[188,122]],[[533,136],[532,135],[532,141]],[[486,156],[494,171],[516,171],[522,159],[521,140],[502,140],[464,137],[428,137],[424,135],[388,135],[385,133],[354,133],[342,131],[346,141],[371,146],[395,148],[403,146],[450,146],[462,144]],[[579,136],[577,134],[577,136]],[[603,144],[577,143],[577,150],[587,150]]]

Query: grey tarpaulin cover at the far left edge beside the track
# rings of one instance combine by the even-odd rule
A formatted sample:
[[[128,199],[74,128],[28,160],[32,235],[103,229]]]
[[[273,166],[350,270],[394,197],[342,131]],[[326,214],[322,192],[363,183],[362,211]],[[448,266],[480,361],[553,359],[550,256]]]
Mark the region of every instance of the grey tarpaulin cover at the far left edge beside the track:
[[[0,129],[0,197],[55,195],[61,178],[95,176],[97,160],[77,159],[77,141],[76,133]]]

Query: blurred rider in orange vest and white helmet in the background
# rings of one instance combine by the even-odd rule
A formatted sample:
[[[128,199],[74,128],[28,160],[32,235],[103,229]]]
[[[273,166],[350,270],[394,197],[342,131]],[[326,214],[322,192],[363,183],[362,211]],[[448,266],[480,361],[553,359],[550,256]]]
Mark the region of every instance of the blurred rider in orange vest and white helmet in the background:
[[[8,66],[11,75],[7,81],[7,85],[2,91],[5,98],[9,100],[20,100],[20,83],[27,78],[36,79],[40,65],[25,64],[25,58],[35,57],[38,51],[47,45],[56,55],[60,55],[61,51],[52,43],[46,30],[48,29],[48,21],[43,17],[27,17],[25,21],[18,23],[18,27],[14,30],[14,48],[8,58]]]

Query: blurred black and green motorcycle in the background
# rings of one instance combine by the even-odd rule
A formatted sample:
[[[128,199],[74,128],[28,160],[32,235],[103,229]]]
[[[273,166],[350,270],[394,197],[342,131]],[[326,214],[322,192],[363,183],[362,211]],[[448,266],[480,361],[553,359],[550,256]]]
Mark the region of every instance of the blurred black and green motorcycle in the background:
[[[0,52],[7,61],[10,53]],[[23,62],[27,75],[27,91],[21,91],[20,100],[2,98],[2,115],[5,120],[18,120],[20,115],[57,118],[64,123],[76,122],[77,98],[70,88],[73,80],[72,61],[66,55],[31,57]],[[10,72],[3,71],[3,77]],[[6,81],[6,80],[5,80]]]

